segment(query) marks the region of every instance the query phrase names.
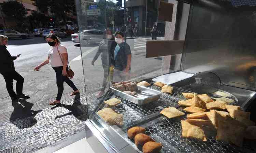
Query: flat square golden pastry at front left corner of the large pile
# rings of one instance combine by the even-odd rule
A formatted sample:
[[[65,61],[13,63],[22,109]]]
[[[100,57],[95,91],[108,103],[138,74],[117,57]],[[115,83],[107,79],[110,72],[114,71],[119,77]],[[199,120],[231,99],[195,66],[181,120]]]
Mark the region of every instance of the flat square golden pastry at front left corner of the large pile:
[[[181,121],[182,126],[182,137],[185,138],[196,138],[201,141],[207,141],[204,131],[196,125],[192,125],[187,121]]]

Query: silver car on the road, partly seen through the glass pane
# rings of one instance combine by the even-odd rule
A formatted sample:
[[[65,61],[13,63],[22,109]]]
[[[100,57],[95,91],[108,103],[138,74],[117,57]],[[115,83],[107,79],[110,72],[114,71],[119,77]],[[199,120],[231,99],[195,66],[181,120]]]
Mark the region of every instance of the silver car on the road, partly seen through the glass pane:
[[[72,34],[71,36],[73,43],[80,43],[79,33]],[[103,32],[100,30],[84,30],[80,32],[80,37],[82,37],[83,45],[100,43],[100,41],[103,39]]]

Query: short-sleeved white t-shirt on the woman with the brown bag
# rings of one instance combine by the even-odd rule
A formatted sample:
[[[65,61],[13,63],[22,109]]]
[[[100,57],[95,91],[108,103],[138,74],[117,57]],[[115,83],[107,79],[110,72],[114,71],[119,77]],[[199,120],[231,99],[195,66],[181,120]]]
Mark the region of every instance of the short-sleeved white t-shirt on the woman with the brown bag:
[[[61,58],[63,60],[63,57],[60,58],[58,49],[59,49],[60,55],[63,53],[67,53],[67,48],[61,44],[59,44],[58,46],[52,47],[48,52],[48,55],[50,57],[50,64],[52,67],[63,66],[63,63],[61,61]]]

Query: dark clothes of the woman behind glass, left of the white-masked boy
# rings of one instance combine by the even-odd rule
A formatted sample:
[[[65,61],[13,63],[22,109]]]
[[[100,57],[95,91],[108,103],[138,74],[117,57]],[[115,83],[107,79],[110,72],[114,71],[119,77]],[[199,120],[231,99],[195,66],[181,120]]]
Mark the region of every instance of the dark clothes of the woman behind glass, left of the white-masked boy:
[[[109,67],[111,65],[115,65],[115,60],[114,60],[114,55],[115,55],[115,47],[117,43],[115,42],[114,39],[112,40],[102,40],[99,45],[99,49],[97,53],[95,54],[93,58],[93,63],[98,59],[99,55],[101,54],[101,62],[102,62],[102,67],[103,67],[103,88],[101,89],[102,91],[105,90],[106,85],[108,84],[107,80],[109,77]],[[107,51],[108,49],[108,51]],[[109,60],[108,60],[109,58]],[[111,74],[110,74],[111,75]],[[113,77],[113,74],[111,75]],[[109,78],[111,78],[109,77]],[[113,81],[113,78],[110,79],[110,81]]]

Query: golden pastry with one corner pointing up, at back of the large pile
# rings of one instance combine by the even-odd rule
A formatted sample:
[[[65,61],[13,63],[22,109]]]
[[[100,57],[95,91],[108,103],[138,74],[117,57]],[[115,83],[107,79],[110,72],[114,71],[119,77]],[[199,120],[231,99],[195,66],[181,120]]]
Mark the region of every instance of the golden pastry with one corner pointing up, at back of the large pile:
[[[194,98],[188,100],[181,100],[178,102],[182,106],[195,106],[205,109],[205,103],[199,99],[196,93],[194,93]]]

